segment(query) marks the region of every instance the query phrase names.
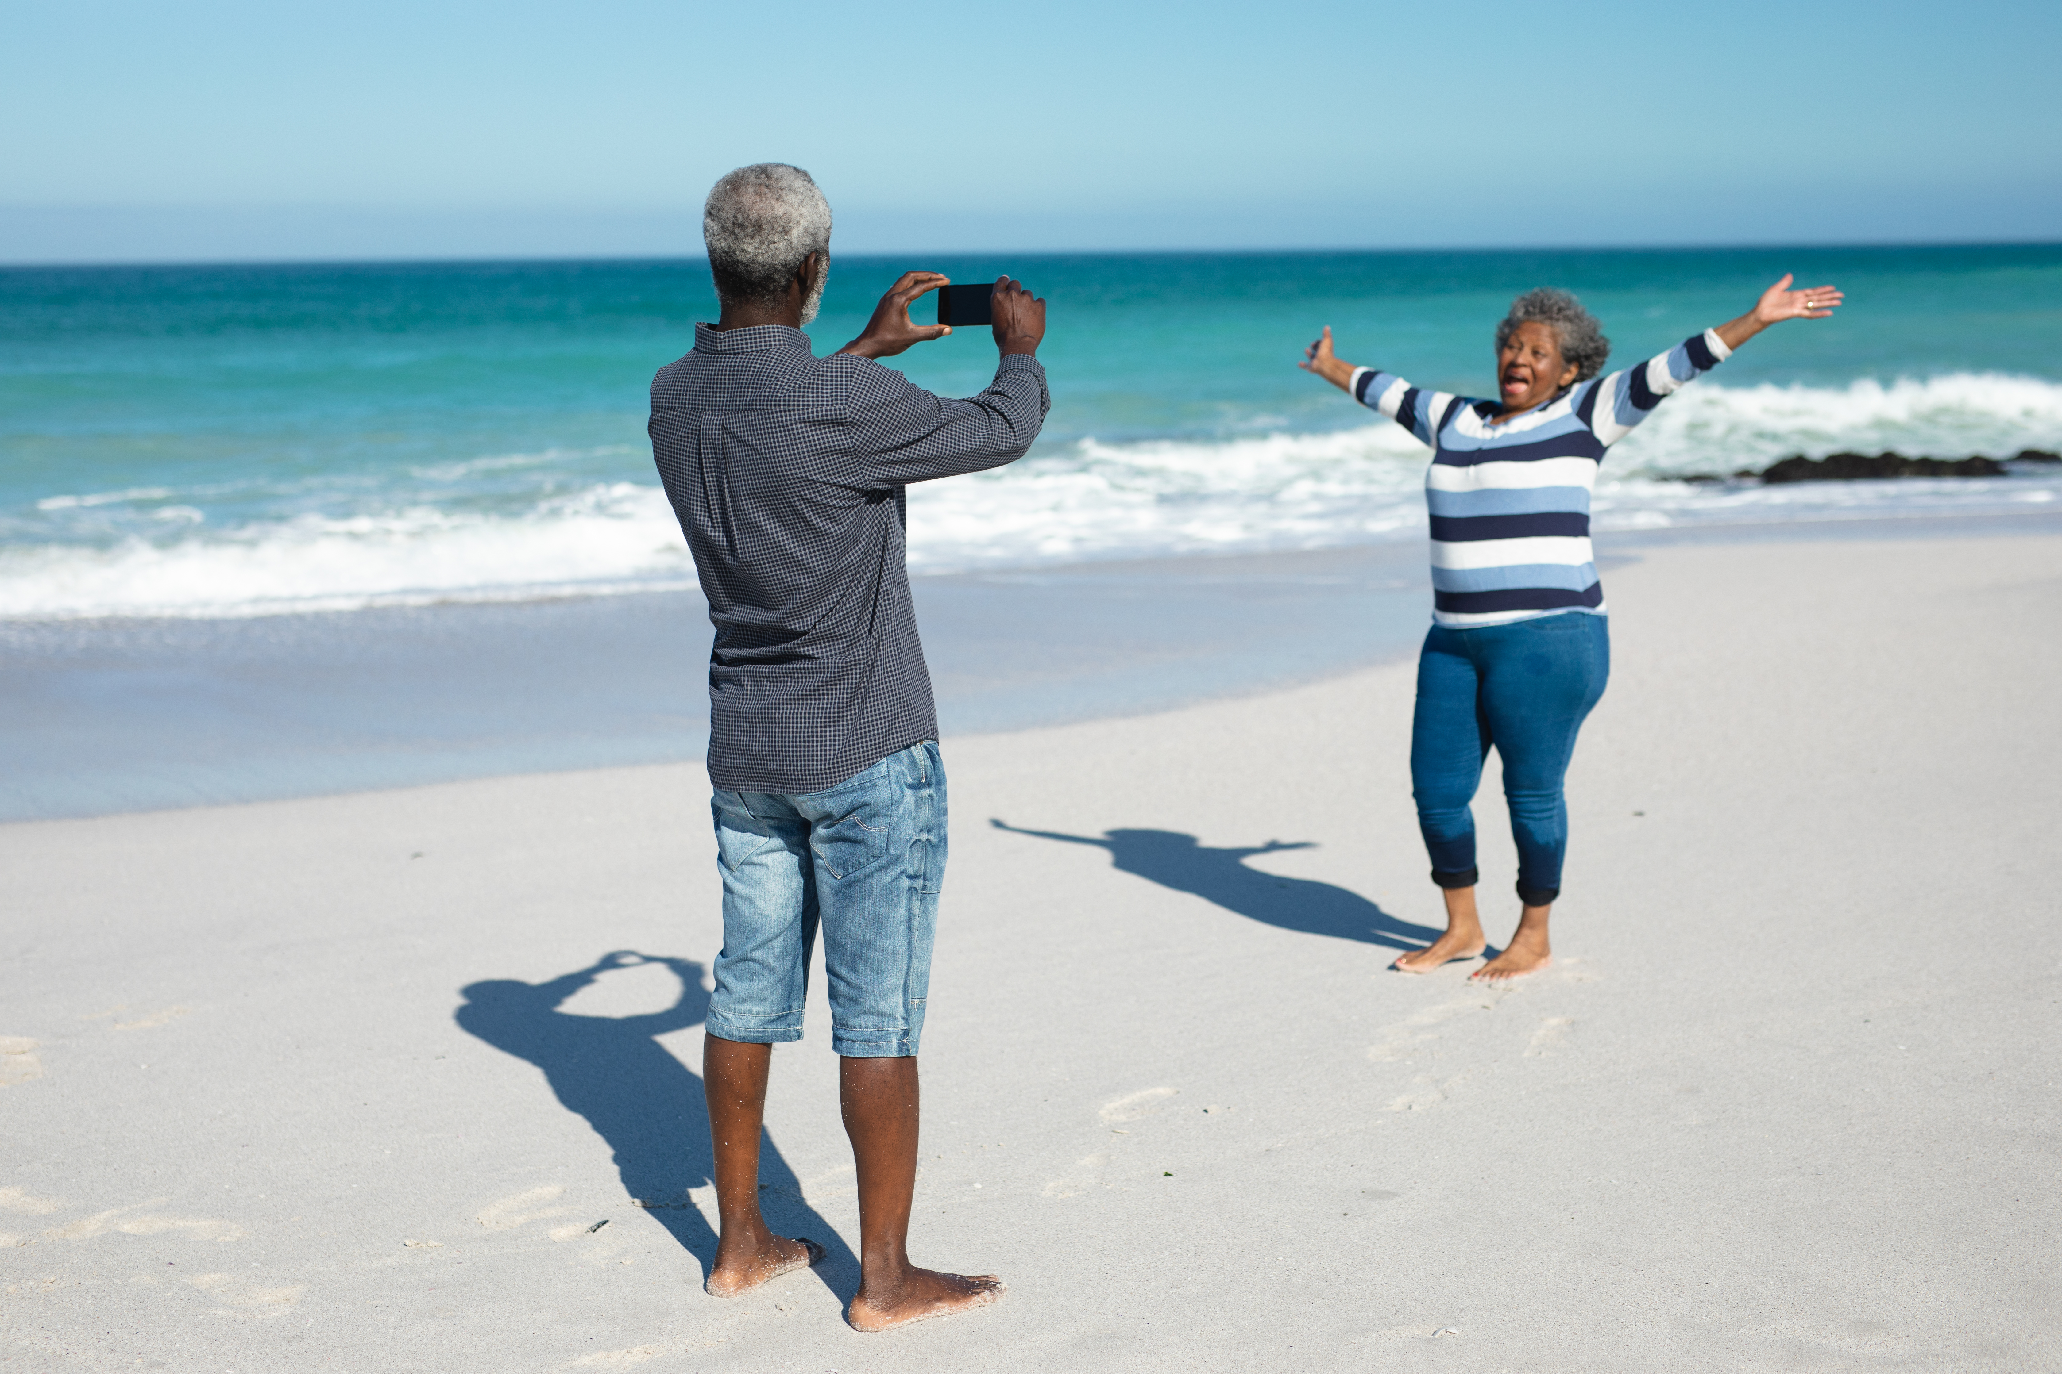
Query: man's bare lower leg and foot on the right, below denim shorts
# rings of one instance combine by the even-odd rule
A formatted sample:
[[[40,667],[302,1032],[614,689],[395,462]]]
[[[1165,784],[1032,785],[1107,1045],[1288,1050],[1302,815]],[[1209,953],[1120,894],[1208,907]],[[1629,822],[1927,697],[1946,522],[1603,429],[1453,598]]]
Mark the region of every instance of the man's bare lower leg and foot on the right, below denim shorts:
[[[887,1331],[926,1316],[986,1308],[1002,1298],[992,1273],[959,1275],[909,1263],[909,1201],[916,1197],[916,1057],[839,1059],[837,1100],[860,1170],[860,1292],[845,1312],[860,1331]]]

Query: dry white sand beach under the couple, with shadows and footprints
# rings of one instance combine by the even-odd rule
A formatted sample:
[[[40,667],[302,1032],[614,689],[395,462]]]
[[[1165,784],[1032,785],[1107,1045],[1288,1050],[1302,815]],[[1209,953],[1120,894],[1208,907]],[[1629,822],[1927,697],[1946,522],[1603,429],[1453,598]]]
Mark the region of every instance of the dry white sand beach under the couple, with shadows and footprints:
[[[911,1252],[1010,1294],[876,1337],[821,987],[831,1257],[701,1292],[699,766],[0,826],[0,1370],[2062,1368],[2062,538],[1606,587],[1507,989],[1386,970],[1408,663],[946,740]]]

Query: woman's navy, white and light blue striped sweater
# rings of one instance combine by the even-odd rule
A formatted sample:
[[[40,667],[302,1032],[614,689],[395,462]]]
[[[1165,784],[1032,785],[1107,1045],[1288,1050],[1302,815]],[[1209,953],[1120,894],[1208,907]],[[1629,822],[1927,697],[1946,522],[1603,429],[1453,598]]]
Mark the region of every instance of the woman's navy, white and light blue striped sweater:
[[[1412,387],[1353,369],[1353,400],[1429,443],[1431,589],[1437,624],[1509,624],[1559,612],[1604,614],[1590,552],[1590,488],[1604,449],[1664,396],[1732,354],[1714,330],[1544,406],[1491,424],[1497,402]]]

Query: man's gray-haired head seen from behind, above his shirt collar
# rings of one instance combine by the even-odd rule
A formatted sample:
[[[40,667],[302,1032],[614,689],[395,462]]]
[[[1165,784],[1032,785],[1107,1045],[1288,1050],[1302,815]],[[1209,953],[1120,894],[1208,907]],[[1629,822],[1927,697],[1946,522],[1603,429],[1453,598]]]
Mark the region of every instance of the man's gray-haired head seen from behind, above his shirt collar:
[[[831,272],[831,202],[808,173],[788,163],[738,167],[701,206],[709,274],[726,303],[777,307],[802,260],[817,253],[817,280],[802,323],[817,315]]]

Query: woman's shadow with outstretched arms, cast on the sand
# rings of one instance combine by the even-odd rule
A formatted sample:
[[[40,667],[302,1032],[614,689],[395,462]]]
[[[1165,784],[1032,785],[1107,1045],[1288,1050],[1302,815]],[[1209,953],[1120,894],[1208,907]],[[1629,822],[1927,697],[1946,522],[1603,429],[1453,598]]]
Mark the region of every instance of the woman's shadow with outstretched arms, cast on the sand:
[[[1177,830],[1103,830],[1101,838],[1062,834],[1058,830],[1025,830],[1002,820],[990,820],[996,830],[1035,834],[1041,840],[1093,845],[1107,849],[1109,861],[1124,873],[1136,873],[1175,892],[1190,892],[1235,911],[1252,921],[1278,925],[1305,935],[1336,935],[1390,950],[1423,950],[1439,931],[1398,921],[1359,892],[1336,888],[1311,878],[1276,878],[1245,867],[1254,855],[1285,849],[1311,849],[1307,840],[1283,845],[1268,840],[1248,849],[1208,849],[1194,834]]]

